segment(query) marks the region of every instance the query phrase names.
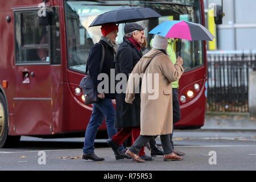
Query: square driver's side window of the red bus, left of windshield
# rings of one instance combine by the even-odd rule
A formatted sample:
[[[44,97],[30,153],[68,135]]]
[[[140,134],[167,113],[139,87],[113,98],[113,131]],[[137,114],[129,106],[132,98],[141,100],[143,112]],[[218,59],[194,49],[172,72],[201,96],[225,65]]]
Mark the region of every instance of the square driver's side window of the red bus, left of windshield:
[[[39,26],[38,10],[14,11],[15,64],[60,64],[59,16],[51,12],[54,24]]]

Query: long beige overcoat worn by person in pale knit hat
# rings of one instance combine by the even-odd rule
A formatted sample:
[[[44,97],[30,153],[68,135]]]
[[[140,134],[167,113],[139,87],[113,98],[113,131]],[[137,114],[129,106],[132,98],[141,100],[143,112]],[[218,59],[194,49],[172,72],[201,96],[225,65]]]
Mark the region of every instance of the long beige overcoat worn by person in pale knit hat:
[[[160,54],[154,57],[156,53]],[[151,49],[135,65],[127,82],[125,101],[130,104],[134,101],[134,93],[139,85],[135,75],[144,75],[141,86],[141,135],[156,136],[172,133],[172,82],[179,80],[183,72],[181,65],[174,65],[169,57],[158,49]]]

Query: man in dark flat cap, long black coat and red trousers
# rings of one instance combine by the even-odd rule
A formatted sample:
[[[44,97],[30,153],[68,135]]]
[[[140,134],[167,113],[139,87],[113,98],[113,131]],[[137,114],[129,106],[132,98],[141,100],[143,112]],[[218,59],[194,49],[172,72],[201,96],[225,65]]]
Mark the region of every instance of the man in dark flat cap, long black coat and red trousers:
[[[124,27],[125,36],[115,56],[115,73],[116,75],[124,73],[127,80],[129,74],[142,57],[141,44],[139,42],[143,39],[143,30],[144,28],[137,23],[127,23]],[[116,94],[115,98],[115,127],[121,128],[121,131],[107,141],[116,154],[118,154],[118,147],[121,146],[130,135],[133,143],[135,139],[139,137],[141,131],[141,98],[139,94],[136,94],[137,97],[133,104],[127,104],[125,102],[125,96],[125,93],[119,93]],[[144,147],[141,147],[139,151],[139,156],[141,156],[142,159],[153,160],[153,158],[145,154]]]

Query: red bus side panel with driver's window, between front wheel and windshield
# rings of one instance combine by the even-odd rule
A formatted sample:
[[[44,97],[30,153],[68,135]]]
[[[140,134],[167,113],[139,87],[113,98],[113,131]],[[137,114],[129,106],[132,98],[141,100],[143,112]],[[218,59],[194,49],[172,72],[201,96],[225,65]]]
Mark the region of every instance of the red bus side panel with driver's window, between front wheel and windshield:
[[[59,12],[48,9],[48,23],[39,25],[39,9],[14,10],[16,135],[52,134],[53,106],[60,85]]]

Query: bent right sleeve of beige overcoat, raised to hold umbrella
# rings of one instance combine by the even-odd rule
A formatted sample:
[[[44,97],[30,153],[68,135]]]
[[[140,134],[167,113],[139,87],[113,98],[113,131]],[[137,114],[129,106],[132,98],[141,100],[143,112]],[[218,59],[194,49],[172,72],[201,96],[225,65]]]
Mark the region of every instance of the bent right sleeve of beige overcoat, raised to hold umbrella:
[[[163,75],[170,82],[174,82],[180,79],[181,75],[184,72],[184,69],[179,64],[173,64],[168,56],[159,57],[160,69],[162,70]]]

